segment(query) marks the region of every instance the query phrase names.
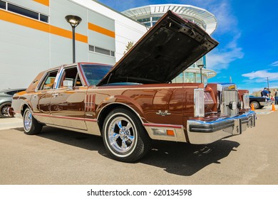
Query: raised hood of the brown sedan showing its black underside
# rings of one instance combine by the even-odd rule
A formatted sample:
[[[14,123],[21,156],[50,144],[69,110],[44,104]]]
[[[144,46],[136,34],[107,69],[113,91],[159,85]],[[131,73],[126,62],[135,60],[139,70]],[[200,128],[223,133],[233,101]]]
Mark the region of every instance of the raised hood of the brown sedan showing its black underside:
[[[195,23],[168,11],[98,85],[168,83],[217,45]]]

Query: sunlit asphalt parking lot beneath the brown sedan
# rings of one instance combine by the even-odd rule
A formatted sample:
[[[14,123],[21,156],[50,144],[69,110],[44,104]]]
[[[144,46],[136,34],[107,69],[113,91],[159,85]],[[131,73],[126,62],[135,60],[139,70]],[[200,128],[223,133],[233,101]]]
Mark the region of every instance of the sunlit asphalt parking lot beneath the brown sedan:
[[[257,127],[207,145],[153,141],[135,163],[106,154],[101,137],[20,121],[0,123],[0,184],[278,184],[278,111],[256,111]]]

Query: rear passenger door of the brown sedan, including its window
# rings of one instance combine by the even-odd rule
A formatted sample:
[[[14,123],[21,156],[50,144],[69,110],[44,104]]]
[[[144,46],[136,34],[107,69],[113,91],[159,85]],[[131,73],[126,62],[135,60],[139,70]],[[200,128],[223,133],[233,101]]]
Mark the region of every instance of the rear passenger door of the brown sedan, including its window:
[[[31,96],[34,117],[41,123],[53,124],[50,117],[50,102],[57,73],[58,69],[46,72],[37,91]]]

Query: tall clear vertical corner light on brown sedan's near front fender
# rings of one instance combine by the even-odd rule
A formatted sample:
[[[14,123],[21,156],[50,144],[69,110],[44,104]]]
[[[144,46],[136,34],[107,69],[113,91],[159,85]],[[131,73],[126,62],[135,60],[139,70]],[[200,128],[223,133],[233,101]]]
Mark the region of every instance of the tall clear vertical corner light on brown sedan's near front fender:
[[[202,88],[194,90],[194,116],[205,117],[204,89]]]

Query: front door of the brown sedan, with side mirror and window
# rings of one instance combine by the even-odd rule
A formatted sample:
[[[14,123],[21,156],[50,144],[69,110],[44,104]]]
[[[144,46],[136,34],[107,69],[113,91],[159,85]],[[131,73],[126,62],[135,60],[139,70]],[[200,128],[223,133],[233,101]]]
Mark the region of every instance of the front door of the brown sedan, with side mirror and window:
[[[53,124],[87,130],[84,99],[88,87],[81,81],[76,65],[63,68],[59,79],[51,97]]]

